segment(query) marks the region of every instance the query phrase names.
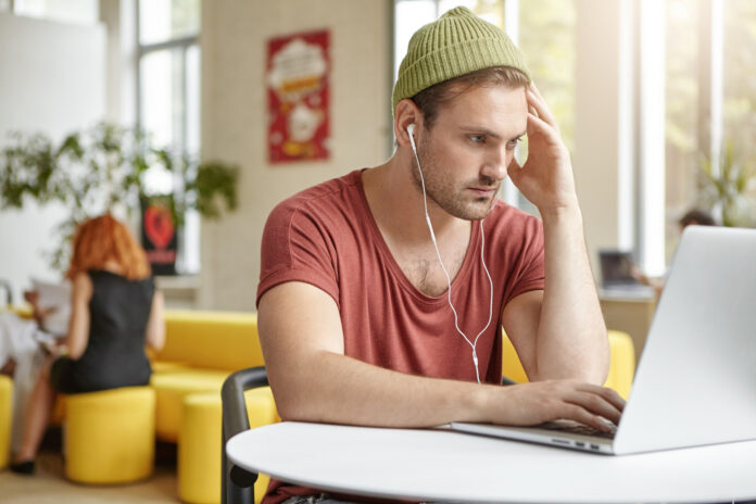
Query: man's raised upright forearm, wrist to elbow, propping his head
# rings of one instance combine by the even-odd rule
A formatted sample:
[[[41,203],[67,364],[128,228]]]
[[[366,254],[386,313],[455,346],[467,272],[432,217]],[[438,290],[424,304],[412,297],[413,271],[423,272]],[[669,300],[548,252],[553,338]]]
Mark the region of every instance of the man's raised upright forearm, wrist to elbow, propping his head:
[[[577,202],[542,211],[545,288],[538,330],[538,379],[606,379],[609,363],[606,326],[585,250]]]

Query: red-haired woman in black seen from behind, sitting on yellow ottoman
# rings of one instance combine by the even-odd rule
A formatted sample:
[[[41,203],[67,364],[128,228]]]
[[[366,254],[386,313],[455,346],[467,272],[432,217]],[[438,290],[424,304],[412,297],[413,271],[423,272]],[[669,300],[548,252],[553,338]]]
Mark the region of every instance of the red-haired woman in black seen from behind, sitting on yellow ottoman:
[[[165,339],[163,298],[128,228],[110,214],[94,217],[78,226],[73,245],[66,355],[51,356],[37,379],[11,464],[16,472],[34,472],[56,393],[148,385],[144,345],[160,350]]]

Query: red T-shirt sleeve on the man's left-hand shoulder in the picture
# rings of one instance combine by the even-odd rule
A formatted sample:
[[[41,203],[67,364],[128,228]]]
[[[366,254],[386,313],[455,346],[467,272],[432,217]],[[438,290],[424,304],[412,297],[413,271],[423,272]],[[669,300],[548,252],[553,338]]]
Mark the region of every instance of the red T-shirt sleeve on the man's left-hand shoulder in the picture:
[[[287,200],[265,223],[256,304],[269,289],[288,281],[311,284],[339,303],[332,240],[306,203]]]

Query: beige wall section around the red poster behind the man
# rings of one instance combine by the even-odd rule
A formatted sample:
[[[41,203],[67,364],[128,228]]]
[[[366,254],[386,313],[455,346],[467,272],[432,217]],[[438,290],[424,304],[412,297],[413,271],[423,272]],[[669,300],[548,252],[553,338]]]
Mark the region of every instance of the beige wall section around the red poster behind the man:
[[[199,306],[254,310],[260,241],[273,206],[294,192],[382,163],[391,138],[392,0],[202,2],[202,156],[241,167],[239,209],[202,223]],[[265,50],[272,37],[330,30],[331,159],[272,166]]]

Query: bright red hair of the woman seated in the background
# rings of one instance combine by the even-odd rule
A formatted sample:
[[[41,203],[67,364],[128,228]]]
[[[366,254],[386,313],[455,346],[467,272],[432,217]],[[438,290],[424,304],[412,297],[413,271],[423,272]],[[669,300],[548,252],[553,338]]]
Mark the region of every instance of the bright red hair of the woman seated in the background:
[[[118,272],[129,280],[150,276],[150,263],[144,250],[137,243],[128,228],[111,214],[90,218],[79,224],[74,235],[74,253],[66,278],[88,269],[106,269],[115,263]]]

